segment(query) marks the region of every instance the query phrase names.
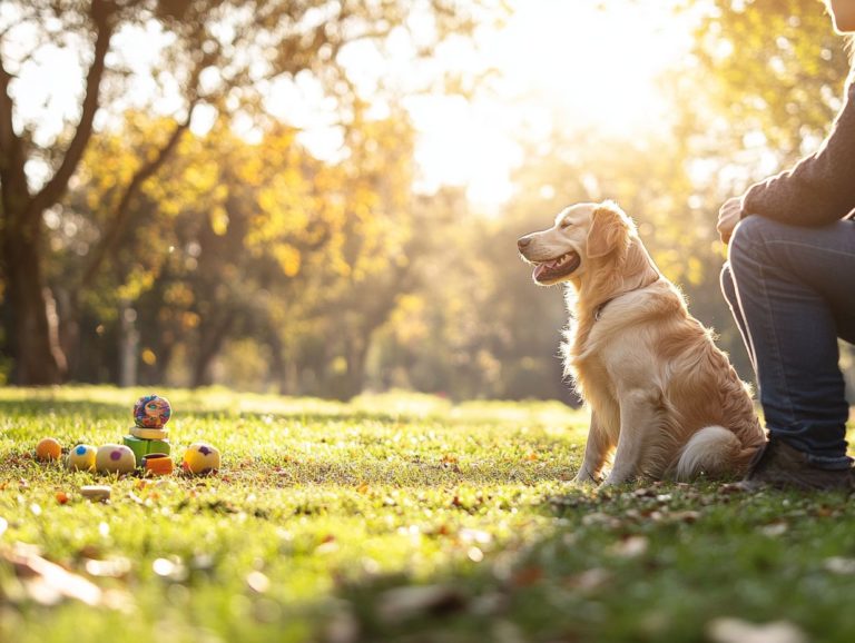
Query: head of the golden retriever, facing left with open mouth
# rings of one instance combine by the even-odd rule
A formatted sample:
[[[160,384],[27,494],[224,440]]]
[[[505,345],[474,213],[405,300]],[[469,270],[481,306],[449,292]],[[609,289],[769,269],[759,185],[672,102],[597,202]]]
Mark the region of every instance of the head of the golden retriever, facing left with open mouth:
[[[635,230],[632,220],[612,201],[578,204],[561,210],[554,225],[517,241],[522,258],[534,266],[541,286],[581,279],[626,249]]]

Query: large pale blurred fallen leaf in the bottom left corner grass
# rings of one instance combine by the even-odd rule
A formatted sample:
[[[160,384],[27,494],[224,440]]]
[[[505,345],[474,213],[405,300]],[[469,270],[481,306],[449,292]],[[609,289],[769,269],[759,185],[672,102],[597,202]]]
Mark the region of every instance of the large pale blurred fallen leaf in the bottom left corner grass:
[[[18,544],[11,551],[0,552],[0,557],[12,565],[26,596],[40,605],[73,600],[92,607],[131,607],[130,596],[125,592],[105,592],[91,581],[41,557],[33,546]]]

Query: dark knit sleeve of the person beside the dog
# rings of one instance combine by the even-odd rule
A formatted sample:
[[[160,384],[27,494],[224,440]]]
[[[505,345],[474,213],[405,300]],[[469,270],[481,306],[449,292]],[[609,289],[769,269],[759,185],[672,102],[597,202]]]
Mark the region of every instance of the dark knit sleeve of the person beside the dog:
[[[761,215],[795,226],[822,226],[855,209],[855,82],[819,151],[753,185],[743,217]]]

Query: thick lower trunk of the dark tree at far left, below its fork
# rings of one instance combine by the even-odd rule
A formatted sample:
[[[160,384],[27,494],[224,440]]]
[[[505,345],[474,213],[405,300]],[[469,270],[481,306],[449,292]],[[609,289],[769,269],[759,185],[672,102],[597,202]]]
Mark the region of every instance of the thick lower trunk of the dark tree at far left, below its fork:
[[[6,230],[3,247],[12,380],[23,386],[59,384],[66,359],[58,345],[56,318],[49,318],[51,314],[56,317],[56,309],[49,313],[41,274],[41,217],[24,225],[27,229]]]

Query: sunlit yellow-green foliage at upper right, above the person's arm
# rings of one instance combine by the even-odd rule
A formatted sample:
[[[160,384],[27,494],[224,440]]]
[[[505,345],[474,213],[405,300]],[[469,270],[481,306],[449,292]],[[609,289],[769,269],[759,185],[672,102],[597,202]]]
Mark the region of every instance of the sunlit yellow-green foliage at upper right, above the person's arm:
[[[709,97],[736,137],[763,135],[792,161],[828,131],[849,61],[820,0],[715,0],[696,41]]]

